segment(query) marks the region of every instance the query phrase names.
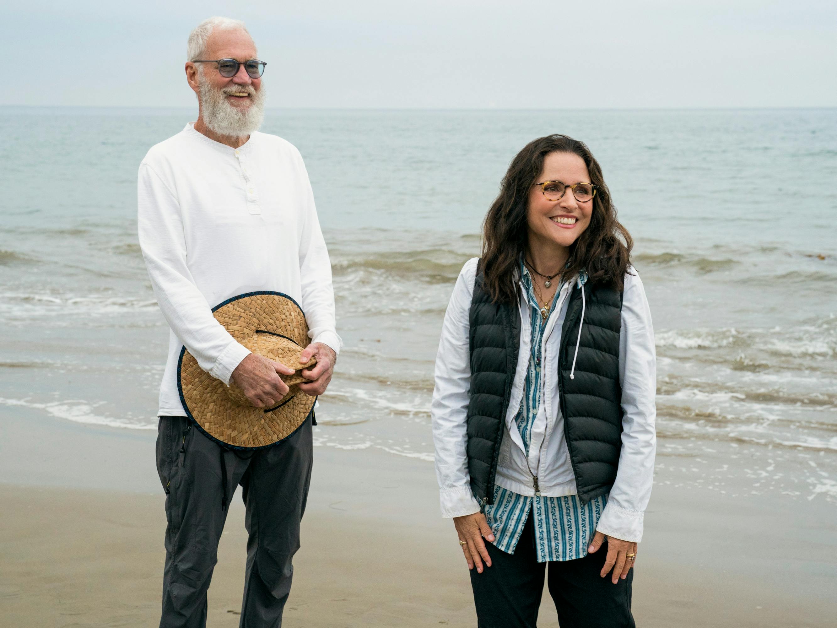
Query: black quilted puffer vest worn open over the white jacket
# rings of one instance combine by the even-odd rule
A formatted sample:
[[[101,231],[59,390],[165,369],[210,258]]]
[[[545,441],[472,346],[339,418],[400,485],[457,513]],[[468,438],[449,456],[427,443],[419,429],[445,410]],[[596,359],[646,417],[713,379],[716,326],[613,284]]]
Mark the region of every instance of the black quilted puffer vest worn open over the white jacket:
[[[582,325],[582,290],[586,301]],[[578,329],[574,378],[573,366]],[[619,330],[622,293],[612,286],[573,287],[561,329],[558,392],[564,435],[583,504],[610,491],[622,446]],[[480,504],[494,502],[494,476],[506,433],[506,410],[515,379],[521,320],[517,306],[494,303],[478,273],[470,306],[468,471]]]

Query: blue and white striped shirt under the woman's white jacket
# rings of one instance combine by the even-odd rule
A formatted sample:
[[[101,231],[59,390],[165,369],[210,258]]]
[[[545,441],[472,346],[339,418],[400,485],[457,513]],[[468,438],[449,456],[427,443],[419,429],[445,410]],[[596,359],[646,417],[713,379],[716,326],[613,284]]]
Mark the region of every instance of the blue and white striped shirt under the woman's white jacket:
[[[521,263],[521,275],[531,304],[531,358],[526,371],[523,404],[515,417],[526,453],[529,451],[529,434],[541,404],[541,343],[547,320],[541,316],[531,275]],[[555,315],[555,305],[560,287],[555,291],[549,316]],[[485,518],[494,533],[496,548],[514,553],[517,541],[531,514],[535,524],[535,550],[538,563],[550,560],[581,559],[587,555],[587,547],[596,532],[598,518],[602,516],[607,497],[593,499],[582,506],[578,495],[565,497],[527,497],[501,486],[494,487],[494,503],[485,506]]]

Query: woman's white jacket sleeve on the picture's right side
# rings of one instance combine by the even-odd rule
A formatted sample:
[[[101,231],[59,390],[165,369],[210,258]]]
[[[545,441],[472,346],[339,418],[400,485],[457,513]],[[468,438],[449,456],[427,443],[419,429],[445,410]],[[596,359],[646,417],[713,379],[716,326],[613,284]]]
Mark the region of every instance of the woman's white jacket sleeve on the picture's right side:
[[[624,541],[642,540],[644,511],[654,483],[656,373],[648,300],[639,275],[626,275],[619,337],[622,451],[616,481],[596,526],[598,532]]]

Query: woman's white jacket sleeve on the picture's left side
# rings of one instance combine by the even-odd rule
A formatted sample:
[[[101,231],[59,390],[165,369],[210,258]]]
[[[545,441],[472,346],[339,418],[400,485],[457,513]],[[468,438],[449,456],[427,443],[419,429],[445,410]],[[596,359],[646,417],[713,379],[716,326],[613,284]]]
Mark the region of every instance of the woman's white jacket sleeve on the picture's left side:
[[[456,280],[448,309],[444,313],[436,356],[430,414],[443,517],[461,517],[480,511],[480,505],[470,488],[465,424],[471,375],[468,313],[476,263],[476,258],[466,262]]]

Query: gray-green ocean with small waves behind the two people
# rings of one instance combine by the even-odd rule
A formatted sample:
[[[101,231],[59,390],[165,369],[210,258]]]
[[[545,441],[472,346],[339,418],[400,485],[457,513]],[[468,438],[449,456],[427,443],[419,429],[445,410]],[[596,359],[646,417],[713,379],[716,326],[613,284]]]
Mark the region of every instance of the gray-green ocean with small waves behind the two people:
[[[0,107],[0,417],[154,430],[136,169],[192,110]],[[318,446],[431,462],[444,309],[511,157],[588,143],[658,355],[655,481],[837,505],[837,110],[269,111],[306,159],[345,347]]]

